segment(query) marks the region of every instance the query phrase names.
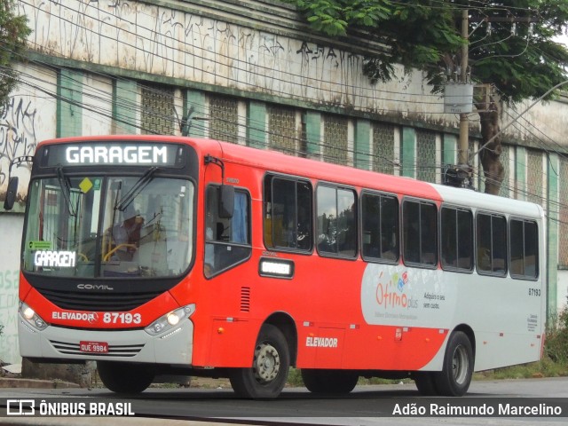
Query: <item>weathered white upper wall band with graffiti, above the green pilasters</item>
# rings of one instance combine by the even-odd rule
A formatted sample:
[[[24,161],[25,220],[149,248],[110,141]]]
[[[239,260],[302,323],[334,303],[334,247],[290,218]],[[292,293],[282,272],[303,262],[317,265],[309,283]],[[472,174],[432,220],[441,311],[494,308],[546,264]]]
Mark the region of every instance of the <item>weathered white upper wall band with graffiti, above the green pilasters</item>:
[[[248,92],[253,98],[457,127],[457,117],[443,113],[443,99],[430,93],[421,72],[405,75],[398,67],[398,78],[390,83],[369,83],[362,73],[364,57],[382,50],[381,44],[312,34],[287,4],[29,0],[18,6],[34,30],[32,50],[86,69],[117,68],[209,90]],[[529,104],[505,108],[502,125]],[[507,130],[509,138],[533,138],[525,120],[539,122],[543,134],[568,146],[566,104],[535,106]],[[471,128],[478,130],[475,114]]]

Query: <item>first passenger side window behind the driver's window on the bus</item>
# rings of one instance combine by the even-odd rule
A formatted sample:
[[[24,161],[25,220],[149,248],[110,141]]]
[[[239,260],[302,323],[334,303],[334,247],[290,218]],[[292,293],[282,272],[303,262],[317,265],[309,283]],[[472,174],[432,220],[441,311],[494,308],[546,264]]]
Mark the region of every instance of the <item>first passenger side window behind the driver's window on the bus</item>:
[[[312,185],[292,177],[264,178],[264,244],[312,250]]]

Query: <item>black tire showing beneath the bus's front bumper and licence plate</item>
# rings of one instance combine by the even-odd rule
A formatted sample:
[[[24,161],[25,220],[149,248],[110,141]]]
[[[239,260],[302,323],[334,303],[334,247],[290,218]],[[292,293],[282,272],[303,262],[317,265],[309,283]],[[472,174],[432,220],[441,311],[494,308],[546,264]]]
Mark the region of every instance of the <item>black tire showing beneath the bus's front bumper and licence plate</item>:
[[[140,393],[154,380],[154,371],[142,364],[97,361],[102,383],[116,393]]]

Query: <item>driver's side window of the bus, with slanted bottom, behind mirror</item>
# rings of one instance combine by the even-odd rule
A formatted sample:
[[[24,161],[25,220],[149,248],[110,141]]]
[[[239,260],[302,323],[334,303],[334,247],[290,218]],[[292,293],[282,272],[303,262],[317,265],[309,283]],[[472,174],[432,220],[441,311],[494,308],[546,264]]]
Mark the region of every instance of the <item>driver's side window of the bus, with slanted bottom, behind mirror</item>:
[[[218,185],[209,185],[205,200],[205,258],[203,272],[212,277],[248,259],[250,247],[250,197],[235,189],[233,217],[218,217]]]

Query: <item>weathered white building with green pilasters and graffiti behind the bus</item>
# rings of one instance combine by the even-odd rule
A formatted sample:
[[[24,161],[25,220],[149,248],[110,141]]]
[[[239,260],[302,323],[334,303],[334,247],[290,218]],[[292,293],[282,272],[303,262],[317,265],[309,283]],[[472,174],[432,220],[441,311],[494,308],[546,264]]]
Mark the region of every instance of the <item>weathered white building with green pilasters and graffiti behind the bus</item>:
[[[371,84],[365,36],[313,34],[294,8],[264,0],[20,0],[33,32],[20,85],[0,110],[0,200],[13,158],[46,138],[188,134],[441,182],[457,161],[458,120],[422,73]],[[568,287],[568,103],[502,112],[504,197],[548,216],[548,314]],[[477,114],[470,153],[479,148]],[[472,155],[475,185],[483,173]],[[15,167],[25,199],[27,167]],[[17,284],[23,204],[0,208],[0,359],[18,361]]]

